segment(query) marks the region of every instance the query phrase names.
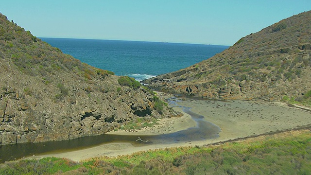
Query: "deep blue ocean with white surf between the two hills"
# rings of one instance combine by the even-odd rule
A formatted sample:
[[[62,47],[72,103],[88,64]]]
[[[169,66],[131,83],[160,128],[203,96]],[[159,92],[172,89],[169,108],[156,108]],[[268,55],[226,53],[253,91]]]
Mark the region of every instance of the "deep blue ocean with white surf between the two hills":
[[[140,81],[203,61],[228,46],[96,39],[41,38],[91,66]]]

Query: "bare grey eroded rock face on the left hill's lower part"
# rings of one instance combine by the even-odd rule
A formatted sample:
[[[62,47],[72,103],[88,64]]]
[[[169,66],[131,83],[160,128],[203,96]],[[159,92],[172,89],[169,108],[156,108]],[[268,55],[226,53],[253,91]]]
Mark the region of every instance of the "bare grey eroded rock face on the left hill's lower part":
[[[28,81],[37,81],[36,77],[29,78]],[[11,79],[3,76],[1,80],[8,85],[12,83]],[[106,84],[108,80],[111,84],[117,84],[117,76],[106,77],[105,80],[96,84]],[[25,82],[25,76],[18,81]],[[70,84],[68,82],[64,87],[70,87]],[[59,100],[55,97],[59,93],[55,87],[46,87],[44,90],[44,85],[28,87],[31,94],[26,94],[22,87],[13,84],[0,92],[1,144],[99,135],[137,117],[169,117],[173,114],[169,108],[165,108],[161,116],[154,109],[152,95],[143,88],[133,90],[122,87],[117,91],[118,86],[111,86],[106,93],[95,90],[88,93],[83,87],[75,85],[74,91],[69,91],[66,97]],[[72,103],[72,99],[75,99],[75,103]]]

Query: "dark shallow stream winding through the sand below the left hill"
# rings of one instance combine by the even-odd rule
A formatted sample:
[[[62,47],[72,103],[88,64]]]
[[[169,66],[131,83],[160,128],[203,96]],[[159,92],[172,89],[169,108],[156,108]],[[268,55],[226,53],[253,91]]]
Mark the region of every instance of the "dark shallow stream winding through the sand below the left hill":
[[[178,103],[176,102],[176,99],[172,99],[170,105],[176,106]],[[190,108],[183,107],[183,110],[184,112],[188,113],[197,123],[195,127],[190,127],[188,129],[169,134],[152,136],[139,135],[142,140],[149,140],[148,142],[136,141],[138,136],[104,134],[100,136],[88,136],[74,140],[2,145],[0,146],[0,162],[32,155],[61,153],[85,149],[106,143],[127,142],[133,144],[134,146],[144,146],[145,144],[171,144],[185,141],[215,139],[219,137],[219,132],[221,131],[220,127],[205,121],[204,116],[191,112]]]

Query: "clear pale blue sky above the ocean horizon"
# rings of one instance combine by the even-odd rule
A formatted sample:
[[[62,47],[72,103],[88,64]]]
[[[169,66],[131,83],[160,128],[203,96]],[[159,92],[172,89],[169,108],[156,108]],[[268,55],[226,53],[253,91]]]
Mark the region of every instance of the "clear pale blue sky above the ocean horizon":
[[[0,12],[38,37],[233,45],[311,0],[2,0]],[[310,22],[310,21],[306,21]]]

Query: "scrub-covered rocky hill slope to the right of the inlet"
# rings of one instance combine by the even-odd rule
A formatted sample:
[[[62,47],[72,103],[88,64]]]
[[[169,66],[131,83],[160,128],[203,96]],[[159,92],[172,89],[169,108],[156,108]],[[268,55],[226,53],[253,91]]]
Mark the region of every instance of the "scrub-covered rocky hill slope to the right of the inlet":
[[[143,83],[198,97],[276,101],[292,98],[310,103],[311,11],[247,35],[198,64]]]

